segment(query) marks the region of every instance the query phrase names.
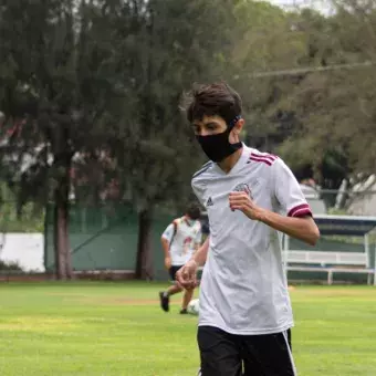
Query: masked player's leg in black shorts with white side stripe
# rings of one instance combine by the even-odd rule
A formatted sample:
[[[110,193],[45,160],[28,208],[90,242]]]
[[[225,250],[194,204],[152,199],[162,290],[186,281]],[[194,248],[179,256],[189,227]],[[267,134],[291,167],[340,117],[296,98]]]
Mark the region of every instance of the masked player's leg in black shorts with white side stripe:
[[[244,336],[242,341],[244,376],[296,376],[290,335],[290,331],[285,331]]]

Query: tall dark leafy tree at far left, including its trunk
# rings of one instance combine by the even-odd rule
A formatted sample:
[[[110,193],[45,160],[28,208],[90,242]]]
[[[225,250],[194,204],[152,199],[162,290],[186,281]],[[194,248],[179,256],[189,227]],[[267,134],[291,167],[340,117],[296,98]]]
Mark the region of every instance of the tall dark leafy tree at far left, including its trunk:
[[[111,98],[123,95],[114,85],[114,46],[107,41],[105,14],[97,17],[93,2],[2,0],[0,10],[1,108],[7,124],[19,132],[11,147],[32,158],[19,197],[21,202],[30,197],[54,200],[56,274],[71,278],[72,158],[95,155],[105,144],[101,118]]]

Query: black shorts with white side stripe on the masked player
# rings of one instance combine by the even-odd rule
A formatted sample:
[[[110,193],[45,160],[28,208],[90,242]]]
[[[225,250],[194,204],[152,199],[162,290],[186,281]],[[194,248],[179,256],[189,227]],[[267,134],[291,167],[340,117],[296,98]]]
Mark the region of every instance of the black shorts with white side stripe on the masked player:
[[[234,335],[213,326],[197,334],[202,376],[295,376],[291,331]]]

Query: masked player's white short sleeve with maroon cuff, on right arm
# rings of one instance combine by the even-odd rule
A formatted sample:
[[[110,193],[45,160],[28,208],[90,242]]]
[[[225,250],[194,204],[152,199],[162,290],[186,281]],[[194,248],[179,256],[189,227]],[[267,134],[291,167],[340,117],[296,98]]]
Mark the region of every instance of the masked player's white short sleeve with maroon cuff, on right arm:
[[[282,159],[276,159],[273,164],[272,180],[274,196],[288,217],[312,216],[296,178]]]

